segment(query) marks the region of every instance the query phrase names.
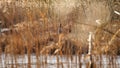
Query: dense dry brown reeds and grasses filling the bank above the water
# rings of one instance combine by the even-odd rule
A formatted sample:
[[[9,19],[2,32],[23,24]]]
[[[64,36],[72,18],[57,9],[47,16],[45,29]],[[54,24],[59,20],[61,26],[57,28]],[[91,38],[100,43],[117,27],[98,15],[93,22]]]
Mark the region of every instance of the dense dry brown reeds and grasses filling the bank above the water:
[[[60,3],[63,2],[60,1]],[[84,2],[86,3],[83,4]],[[18,5],[16,3],[18,3]],[[29,5],[29,4],[35,5],[35,3],[36,5],[39,4],[42,5],[40,6]],[[96,30],[94,40],[95,52],[96,50],[98,50],[98,52],[100,53],[104,52],[111,53],[110,46],[112,46],[113,43],[110,44],[110,46],[108,43],[110,42],[110,39],[112,39],[112,36],[114,37],[117,30],[119,30],[118,28],[119,17],[118,15],[115,15],[117,16],[117,20],[115,19],[117,22],[114,21],[114,19],[113,22],[110,22],[109,21],[109,18],[111,18],[110,13],[113,11],[110,8],[113,8],[114,10],[118,10],[119,8],[115,8],[114,4],[110,4],[111,2],[108,1],[98,2],[96,0],[93,2],[89,1],[89,3],[87,1],[80,1],[80,4],[82,6],[76,7],[76,9],[73,8],[75,6],[71,6],[70,8],[68,8],[68,10],[71,10],[69,12],[66,11],[64,6],[60,7],[59,9],[62,8],[64,13],[66,13],[64,14],[62,10],[58,13],[59,9],[55,8],[57,6],[57,3],[59,3],[59,1],[54,2],[50,1],[50,3],[48,3],[47,1],[41,1],[39,3],[37,1],[34,2],[1,1],[0,8],[0,21],[2,22],[1,28],[7,27],[10,29],[10,31],[1,34],[0,46],[2,48],[2,51],[3,52],[6,51],[6,53],[8,53],[10,50],[14,49],[13,47],[15,46],[15,49],[18,50],[18,53],[20,53],[22,49],[27,50],[27,47],[30,46],[32,52],[35,52],[36,47],[38,47],[40,53],[42,53],[49,47],[50,48],[48,50],[55,49],[54,50],[55,52],[60,50],[62,51],[62,53],[65,53],[64,50],[67,50],[66,48],[70,49],[70,53],[72,52],[72,54],[76,54],[77,52],[82,53],[83,51],[81,50],[83,50],[83,48],[85,48],[86,49],[85,52],[87,52],[88,43],[86,43],[87,42],[86,39],[88,36],[88,31]],[[68,2],[66,1],[64,3],[69,5]],[[21,4],[24,6],[22,6]],[[73,1],[72,4],[78,3],[77,1]],[[115,2],[115,4],[119,5],[118,2]],[[49,5],[53,5],[53,7]],[[95,5],[98,5],[98,9],[96,7],[93,7]],[[38,7],[40,9],[38,9]],[[56,11],[54,11],[55,9]],[[79,10],[81,10],[81,12],[79,12]],[[94,12],[96,14],[92,13],[91,10],[95,10]],[[99,10],[104,11],[100,12]],[[111,14],[113,14],[113,12]],[[112,17],[114,17],[114,14]],[[94,22],[98,18],[101,18],[102,20],[100,26],[96,25]],[[77,22],[76,20],[79,21]],[[87,22],[91,22],[91,25]],[[61,25],[62,34],[65,36],[58,34],[59,23],[62,24]],[[74,35],[76,35],[77,37],[74,37]],[[116,38],[119,37],[118,35],[119,32],[115,35]],[[62,39],[62,41],[60,39]],[[72,39],[75,39],[76,41],[73,41]],[[113,49],[115,50],[114,52],[115,54],[119,54],[119,49],[117,49],[116,51],[116,48],[118,48],[117,41],[114,43],[116,47],[115,49]],[[99,48],[99,46],[102,48]],[[74,52],[74,50],[76,50],[76,52]],[[69,52],[66,52],[66,54],[67,53],[69,54]]]

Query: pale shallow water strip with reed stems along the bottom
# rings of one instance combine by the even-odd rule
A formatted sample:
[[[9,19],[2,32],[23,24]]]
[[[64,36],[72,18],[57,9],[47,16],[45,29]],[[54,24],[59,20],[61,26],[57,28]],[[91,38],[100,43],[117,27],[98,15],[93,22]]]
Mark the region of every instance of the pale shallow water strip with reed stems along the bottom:
[[[89,59],[85,59],[84,55],[80,56],[39,56],[38,59],[36,55],[31,55],[31,68],[86,68]],[[120,68],[120,57],[108,57],[102,56],[92,56],[95,68]],[[1,55],[0,68],[12,68],[11,66],[17,68],[28,68],[28,56],[12,56],[12,55]],[[37,64],[39,62],[39,64]]]

